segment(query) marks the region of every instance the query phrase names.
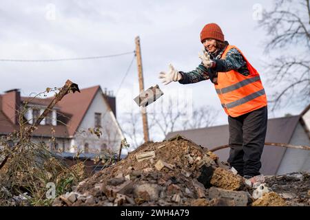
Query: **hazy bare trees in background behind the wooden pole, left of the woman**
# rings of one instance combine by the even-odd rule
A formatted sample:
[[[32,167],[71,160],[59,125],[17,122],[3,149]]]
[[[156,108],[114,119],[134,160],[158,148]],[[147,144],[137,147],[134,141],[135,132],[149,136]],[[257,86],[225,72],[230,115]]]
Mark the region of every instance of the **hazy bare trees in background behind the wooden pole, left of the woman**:
[[[149,135],[151,140],[163,140],[167,133],[185,129],[198,129],[210,126],[216,121],[218,111],[210,106],[192,109],[190,102],[179,101],[169,97],[158,101],[158,109],[147,110]],[[154,106],[153,106],[154,107]],[[127,140],[134,148],[143,144],[143,128],[141,113],[130,113],[123,115],[121,125]]]

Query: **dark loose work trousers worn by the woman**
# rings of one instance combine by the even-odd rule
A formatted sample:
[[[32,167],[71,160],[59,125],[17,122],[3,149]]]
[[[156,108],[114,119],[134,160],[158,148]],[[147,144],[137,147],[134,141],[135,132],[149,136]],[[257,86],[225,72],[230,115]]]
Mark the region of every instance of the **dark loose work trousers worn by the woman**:
[[[240,175],[260,175],[267,131],[267,106],[236,118],[228,116],[229,162]]]

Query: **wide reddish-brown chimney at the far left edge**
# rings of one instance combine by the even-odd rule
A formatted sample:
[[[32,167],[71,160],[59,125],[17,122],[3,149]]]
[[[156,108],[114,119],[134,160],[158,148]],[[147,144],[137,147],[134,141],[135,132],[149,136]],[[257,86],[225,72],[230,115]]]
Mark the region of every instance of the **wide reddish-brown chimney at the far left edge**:
[[[21,92],[19,89],[5,91],[2,96],[1,110],[13,124],[18,124],[19,106],[21,104]]]

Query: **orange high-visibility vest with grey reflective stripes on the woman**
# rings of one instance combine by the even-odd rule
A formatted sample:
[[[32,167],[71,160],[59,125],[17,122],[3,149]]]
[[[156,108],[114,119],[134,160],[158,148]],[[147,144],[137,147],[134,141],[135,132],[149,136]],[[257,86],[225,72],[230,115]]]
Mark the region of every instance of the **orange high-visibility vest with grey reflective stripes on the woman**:
[[[236,48],[242,54],[236,46],[228,45],[223,52],[222,59],[226,57],[231,48]],[[247,62],[249,76],[243,76],[236,70],[218,72],[218,84],[214,84],[222,107],[231,117],[238,117],[267,106],[267,98],[260,81],[260,74],[243,54],[242,56]]]

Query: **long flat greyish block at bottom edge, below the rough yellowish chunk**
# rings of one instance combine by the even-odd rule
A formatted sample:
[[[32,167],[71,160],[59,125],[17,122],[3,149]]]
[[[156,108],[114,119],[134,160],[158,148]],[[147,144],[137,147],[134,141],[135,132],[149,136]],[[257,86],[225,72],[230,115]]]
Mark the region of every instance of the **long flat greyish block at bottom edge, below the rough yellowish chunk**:
[[[234,206],[247,206],[248,202],[247,192],[245,191],[225,190],[216,187],[209,188],[209,198],[231,199],[234,201]]]

